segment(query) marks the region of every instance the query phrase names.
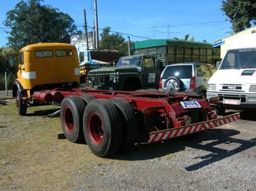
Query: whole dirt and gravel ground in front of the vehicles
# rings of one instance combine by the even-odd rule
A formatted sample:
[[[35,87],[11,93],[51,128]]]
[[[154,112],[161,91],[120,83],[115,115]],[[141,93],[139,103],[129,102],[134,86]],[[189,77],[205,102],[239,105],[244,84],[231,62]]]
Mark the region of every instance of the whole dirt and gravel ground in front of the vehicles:
[[[255,190],[256,113],[232,124],[153,144],[112,158],[58,139],[56,107],[18,116],[0,97],[0,190]],[[44,111],[42,111],[44,110]]]

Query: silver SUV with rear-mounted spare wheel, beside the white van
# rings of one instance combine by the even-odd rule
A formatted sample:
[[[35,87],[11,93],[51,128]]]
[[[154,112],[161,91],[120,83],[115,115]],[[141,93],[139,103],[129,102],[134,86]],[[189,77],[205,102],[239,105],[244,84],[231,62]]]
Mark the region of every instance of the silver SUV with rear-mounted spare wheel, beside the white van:
[[[194,91],[206,98],[207,82],[215,71],[211,64],[200,62],[171,64],[162,71],[159,89],[174,87],[176,91]]]

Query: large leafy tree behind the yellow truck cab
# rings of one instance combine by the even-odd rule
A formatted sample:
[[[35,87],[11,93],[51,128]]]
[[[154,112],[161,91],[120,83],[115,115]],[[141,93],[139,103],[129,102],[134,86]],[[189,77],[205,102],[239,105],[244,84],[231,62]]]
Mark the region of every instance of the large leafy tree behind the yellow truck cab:
[[[17,51],[38,42],[69,42],[76,33],[74,20],[57,8],[41,5],[42,0],[21,0],[6,13],[4,24],[11,28],[8,45]]]

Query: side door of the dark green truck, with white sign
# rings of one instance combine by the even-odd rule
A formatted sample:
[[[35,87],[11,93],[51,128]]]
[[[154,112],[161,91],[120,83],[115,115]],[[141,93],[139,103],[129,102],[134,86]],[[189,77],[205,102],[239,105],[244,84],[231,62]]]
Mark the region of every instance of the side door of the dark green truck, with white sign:
[[[143,57],[142,82],[144,89],[157,89],[160,78],[160,69],[155,66],[155,58]]]

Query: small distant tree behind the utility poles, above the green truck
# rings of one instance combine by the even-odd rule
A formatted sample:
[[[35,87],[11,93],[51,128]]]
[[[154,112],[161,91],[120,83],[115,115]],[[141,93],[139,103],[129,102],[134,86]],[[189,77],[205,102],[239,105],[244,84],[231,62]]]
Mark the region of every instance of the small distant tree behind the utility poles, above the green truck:
[[[103,28],[101,41],[99,42],[100,49],[117,50],[122,52],[125,48],[128,49],[128,46],[124,43],[123,36],[114,33],[110,35],[110,29],[110,27]]]

